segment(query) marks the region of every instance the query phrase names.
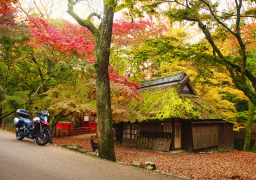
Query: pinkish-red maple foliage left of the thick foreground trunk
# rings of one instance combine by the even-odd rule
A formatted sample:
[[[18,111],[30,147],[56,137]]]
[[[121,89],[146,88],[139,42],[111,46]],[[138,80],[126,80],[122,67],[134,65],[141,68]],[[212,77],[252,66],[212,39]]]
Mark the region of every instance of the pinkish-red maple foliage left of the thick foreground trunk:
[[[39,49],[45,49],[48,52],[59,52],[66,56],[77,56],[84,60],[85,58],[94,63],[94,46],[95,42],[88,40],[85,35],[90,35],[85,28],[79,30],[70,27],[71,24],[64,24],[63,28],[56,28],[54,25],[47,23],[42,19],[29,19],[30,33],[33,35],[27,45]],[[69,28],[68,28],[69,27]],[[77,31],[74,31],[74,30]],[[76,32],[76,33],[75,33]]]

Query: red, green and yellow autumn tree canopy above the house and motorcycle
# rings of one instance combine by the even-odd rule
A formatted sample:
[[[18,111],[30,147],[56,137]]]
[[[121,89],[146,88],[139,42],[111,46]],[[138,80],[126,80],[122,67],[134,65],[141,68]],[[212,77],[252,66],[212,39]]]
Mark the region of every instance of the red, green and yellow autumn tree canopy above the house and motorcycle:
[[[146,119],[127,106],[143,98],[141,80],[180,71],[235,130],[247,102],[256,104],[255,1],[234,1],[229,9],[221,1],[102,1],[105,14],[98,9],[82,19],[73,9],[80,1],[70,0],[78,24],[49,19],[42,8],[20,21],[16,2],[0,6],[1,120],[34,105],[51,110],[53,125],[90,112],[102,124],[107,117],[109,128],[99,129],[110,137],[113,122]],[[125,16],[113,21],[119,10]]]

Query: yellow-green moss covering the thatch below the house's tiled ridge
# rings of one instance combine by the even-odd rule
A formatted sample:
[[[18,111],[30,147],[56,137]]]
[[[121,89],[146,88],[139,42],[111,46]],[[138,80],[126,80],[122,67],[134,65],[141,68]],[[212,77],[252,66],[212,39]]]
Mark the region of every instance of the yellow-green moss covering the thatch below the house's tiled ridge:
[[[149,120],[165,120],[171,117],[182,119],[219,119],[216,110],[208,102],[194,95],[180,95],[173,87],[143,90],[143,101],[133,101],[130,108]]]

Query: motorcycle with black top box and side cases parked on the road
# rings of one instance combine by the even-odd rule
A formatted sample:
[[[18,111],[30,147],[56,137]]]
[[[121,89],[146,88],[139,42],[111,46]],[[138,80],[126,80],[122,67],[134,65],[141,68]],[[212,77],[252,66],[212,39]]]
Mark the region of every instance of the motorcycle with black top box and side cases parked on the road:
[[[38,111],[38,107],[35,106]],[[49,113],[47,110],[41,111],[41,113],[33,111],[35,115],[40,117],[34,117],[33,120],[27,119],[30,116],[30,112],[24,109],[18,109],[16,111],[19,117],[15,117],[14,125],[16,128],[16,138],[22,140],[24,137],[29,139],[35,139],[38,145],[45,145],[51,138],[51,133],[48,131],[47,126]]]

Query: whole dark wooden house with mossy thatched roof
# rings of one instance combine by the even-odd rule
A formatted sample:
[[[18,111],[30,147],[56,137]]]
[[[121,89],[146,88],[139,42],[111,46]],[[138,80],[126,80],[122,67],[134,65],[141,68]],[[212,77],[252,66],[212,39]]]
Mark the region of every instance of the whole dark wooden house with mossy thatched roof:
[[[130,102],[147,120],[113,124],[116,144],[153,150],[233,150],[233,124],[198,97],[184,72],[141,82],[142,101]]]

